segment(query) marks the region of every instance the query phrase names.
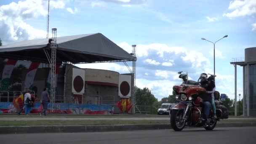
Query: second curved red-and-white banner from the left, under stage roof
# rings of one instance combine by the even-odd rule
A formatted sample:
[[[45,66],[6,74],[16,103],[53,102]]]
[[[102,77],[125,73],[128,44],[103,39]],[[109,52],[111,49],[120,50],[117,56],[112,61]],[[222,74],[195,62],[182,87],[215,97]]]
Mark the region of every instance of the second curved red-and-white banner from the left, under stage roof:
[[[32,85],[34,83],[35,74],[37,72],[37,68],[39,66],[39,62],[32,62],[27,70],[27,75],[25,78],[24,88],[32,89]]]

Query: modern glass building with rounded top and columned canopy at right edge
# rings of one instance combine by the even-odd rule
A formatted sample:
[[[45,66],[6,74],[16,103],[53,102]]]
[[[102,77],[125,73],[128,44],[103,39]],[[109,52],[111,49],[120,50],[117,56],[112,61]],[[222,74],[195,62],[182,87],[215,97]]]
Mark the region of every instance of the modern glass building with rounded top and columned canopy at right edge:
[[[245,48],[245,59],[232,59],[235,66],[235,101],[237,97],[237,65],[243,67],[243,115],[256,116],[256,47]],[[236,115],[236,106],[235,106]]]

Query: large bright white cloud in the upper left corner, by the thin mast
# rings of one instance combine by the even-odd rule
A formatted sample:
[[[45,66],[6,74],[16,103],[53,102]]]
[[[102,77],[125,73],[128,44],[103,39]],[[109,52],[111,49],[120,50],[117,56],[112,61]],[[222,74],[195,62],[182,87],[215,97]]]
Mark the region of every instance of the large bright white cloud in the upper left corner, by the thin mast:
[[[64,8],[64,0],[51,0],[50,8]],[[46,32],[36,29],[24,20],[47,16],[48,1],[23,0],[0,6],[0,33],[3,44],[17,40],[46,37]],[[46,21],[45,21],[46,23]]]

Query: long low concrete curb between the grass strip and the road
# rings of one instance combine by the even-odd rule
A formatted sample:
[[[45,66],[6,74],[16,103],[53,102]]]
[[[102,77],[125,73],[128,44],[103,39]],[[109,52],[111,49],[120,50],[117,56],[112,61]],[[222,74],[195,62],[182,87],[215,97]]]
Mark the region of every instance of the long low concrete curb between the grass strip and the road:
[[[216,127],[250,127],[256,123],[217,123]],[[191,127],[188,127],[191,128]],[[195,127],[192,127],[195,128]],[[0,134],[8,133],[79,133],[106,131],[138,131],[171,129],[170,124],[139,124],[139,125],[53,125],[53,126],[0,126]]]

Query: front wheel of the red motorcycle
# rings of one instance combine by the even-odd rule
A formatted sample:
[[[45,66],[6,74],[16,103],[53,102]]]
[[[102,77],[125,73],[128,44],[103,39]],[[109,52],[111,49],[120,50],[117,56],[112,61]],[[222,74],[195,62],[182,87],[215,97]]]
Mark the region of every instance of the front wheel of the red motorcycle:
[[[185,121],[182,119],[184,110],[172,110],[171,112],[171,127],[174,131],[181,131],[185,127]]]

